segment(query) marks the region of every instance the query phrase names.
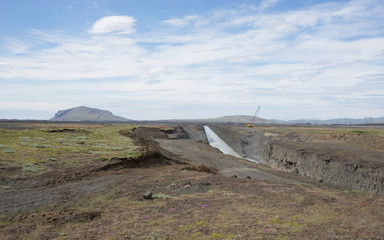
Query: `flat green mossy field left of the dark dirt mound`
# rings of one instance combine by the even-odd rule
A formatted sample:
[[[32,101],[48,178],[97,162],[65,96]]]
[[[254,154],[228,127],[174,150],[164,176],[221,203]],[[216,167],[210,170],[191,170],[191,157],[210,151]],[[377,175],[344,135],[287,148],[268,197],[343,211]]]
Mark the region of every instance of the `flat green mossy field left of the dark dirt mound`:
[[[138,146],[119,134],[130,125],[38,125],[22,130],[0,128],[0,159],[4,173],[19,167],[23,173],[60,167],[99,164],[112,157],[138,156]],[[15,173],[12,173],[15,175]],[[16,177],[16,176],[15,176]]]

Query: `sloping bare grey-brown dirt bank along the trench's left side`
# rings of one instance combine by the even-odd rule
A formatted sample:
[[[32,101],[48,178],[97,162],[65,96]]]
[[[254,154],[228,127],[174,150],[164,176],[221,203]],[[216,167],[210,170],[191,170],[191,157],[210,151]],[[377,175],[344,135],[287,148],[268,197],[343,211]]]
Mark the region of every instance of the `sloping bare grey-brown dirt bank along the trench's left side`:
[[[260,167],[244,159],[221,153],[218,149],[207,144],[203,125],[188,125],[175,129],[179,129],[178,137],[173,137],[174,134],[171,132],[165,133],[145,127],[135,129],[133,132],[141,138],[146,139],[148,137],[148,141],[155,142],[151,145],[158,146],[159,152],[163,155],[172,155],[174,156],[171,157],[172,159],[182,159],[185,163],[194,166],[203,164],[217,169],[225,176],[254,178],[271,182],[301,182],[292,176],[281,174],[280,171]]]

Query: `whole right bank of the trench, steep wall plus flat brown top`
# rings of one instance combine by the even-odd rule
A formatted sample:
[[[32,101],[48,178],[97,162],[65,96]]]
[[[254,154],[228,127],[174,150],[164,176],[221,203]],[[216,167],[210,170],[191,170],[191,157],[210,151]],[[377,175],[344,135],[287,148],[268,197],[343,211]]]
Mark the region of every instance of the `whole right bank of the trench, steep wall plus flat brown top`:
[[[384,194],[384,138],[367,130],[210,127],[245,158],[318,182]]]

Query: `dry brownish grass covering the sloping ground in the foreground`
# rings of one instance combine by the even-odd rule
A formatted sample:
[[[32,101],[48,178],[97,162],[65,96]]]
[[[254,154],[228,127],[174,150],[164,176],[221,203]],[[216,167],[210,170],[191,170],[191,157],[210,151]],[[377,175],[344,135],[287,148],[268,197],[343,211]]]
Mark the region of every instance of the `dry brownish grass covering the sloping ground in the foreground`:
[[[33,225],[32,221],[21,221],[19,225],[16,220],[21,216],[30,218],[40,213],[41,217],[50,211],[102,215],[84,222],[41,221],[20,237],[39,239],[47,231],[55,239],[375,239],[384,234],[383,197],[195,171],[185,173],[172,166],[157,172],[161,175],[152,169],[149,178],[135,186],[121,183],[91,198],[66,202],[60,210],[56,206],[16,214],[13,221],[2,217],[2,234],[9,237],[7,230],[15,224],[18,228],[24,226],[24,231]],[[141,169],[130,172],[132,177],[142,173]],[[208,192],[179,195],[167,188],[177,179],[208,181],[212,187]],[[148,187],[172,198],[140,200],[140,193]],[[228,192],[231,194],[226,196]]]

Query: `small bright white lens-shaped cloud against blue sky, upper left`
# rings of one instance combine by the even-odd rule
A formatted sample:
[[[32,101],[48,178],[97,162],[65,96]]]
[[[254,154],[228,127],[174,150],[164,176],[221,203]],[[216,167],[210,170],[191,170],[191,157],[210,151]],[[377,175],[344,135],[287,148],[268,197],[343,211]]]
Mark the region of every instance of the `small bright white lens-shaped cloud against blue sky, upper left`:
[[[110,32],[118,32],[123,34],[134,33],[133,27],[136,19],[130,16],[108,16],[97,20],[88,32],[102,34]]]

